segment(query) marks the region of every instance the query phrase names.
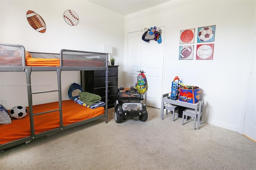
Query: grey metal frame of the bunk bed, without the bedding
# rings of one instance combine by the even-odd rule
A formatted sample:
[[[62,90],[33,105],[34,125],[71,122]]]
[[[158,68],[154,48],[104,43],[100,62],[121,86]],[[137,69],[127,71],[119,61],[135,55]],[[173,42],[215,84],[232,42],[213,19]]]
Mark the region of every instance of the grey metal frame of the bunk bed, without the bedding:
[[[14,44],[0,44],[0,45],[7,45],[7,46],[13,46],[16,47],[17,45]],[[22,49],[22,56],[25,56],[25,48],[22,45],[18,45]],[[63,52],[81,52],[81,53],[91,53],[91,54],[104,54],[106,55],[106,65],[105,67],[68,67],[68,66],[62,66],[62,56]],[[43,54],[43,53],[42,53]],[[49,53],[48,53],[49,54]],[[96,52],[88,52],[88,51],[75,51],[75,50],[68,50],[68,49],[61,49],[60,50],[60,66],[58,67],[40,67],[40,66],[26,66],[26,61],[25,57],[22,57],[22,66],[11,66],[11,67],[6,67],[6,66],[0,66],[0,71],[6,72],[6,71],[25,71],[26,73],[26,82],[27,82],[27,91],[28,91],[28,107],[29,107],[29,117],[30,117],[30,130],[31,134],[28,137],[21,138],[18,140],[14,140],[12,142],[8,142],[6,144],[1,144],[0,145],[0,151],[5,150],[7,148],[14,147],[16,145],[22,144],[22,143],[28,143],[31,140],[34,140],[36,138],[40,138],[43,136],[47,136],[49,134],[53,134],[68,128],[76,127],[97,119],[101,119],[105,117],[106,123],[108,123],[108,53],[96,53]],[[86,68],[86,69],[85,69]],[[63,120],[62,120],[62,95],[61,95],[61,71],[87,71],[87,70],[105,70],[106,73],[106,101],[105,101],[105,113],[103,115],[99,115],[96,117],[92,117],[90,119],[86,119],[84,121],[79,121],[76,123],[72,123],[66,126],[63,126]],[[57,72],[57,81],[58,81],[58,89],[57,90],[50,90],[50,91],[38,91],[38,92],[32,92],[31,89],[31,73],[32,71],[56,71]],[[81,74],[82,78],[82,74]],[[81,85],[82,86],[82,85]],[[32,95],[33,94],[38,94],[38,93],[50,93],[50,92],[56,92],[58,91],[58,99],[59,99],[59,109],[56,110],[49,110],[46,112],[41,112],[41,113],[36,113],[33,114],[33,103],[32,103]],[[41,132],[39,134],[35,134],[34,130],[34,116],[40,115],[40,114],[45,114],[45,113],[50,113],[54,111],[59,111],[59,117],[60,117],[60,127],[54,128],[52,130],[48,130],[45,132]]]

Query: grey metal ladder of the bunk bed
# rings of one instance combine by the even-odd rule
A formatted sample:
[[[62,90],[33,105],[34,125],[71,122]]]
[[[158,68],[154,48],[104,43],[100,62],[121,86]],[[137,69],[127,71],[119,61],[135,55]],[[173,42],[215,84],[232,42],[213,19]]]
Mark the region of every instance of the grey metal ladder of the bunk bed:
[[[54,67],[55,68],[55,67]],[[44,69],[36,69],[35,71],[45,71]],[[53,71],[53,70],[51,70]],[[55,71],[55,69],[54,69]],[[39,91],[39,92],[32,92],[31,89],[31,72],[32,72],[32,67],[25,67],[25,72],[26,72],[26,81],[27,81],[27,90],[28,90],[28,107],[29,107],[29,118],[30,118],[30,129],[31,129],[31,140],[35,138],[36,134],[35,134],[35,129],[34,129],[34,116],[35,115],[41,115],[41,114],[45,114],[45,113],[50,113],[50,112],[54,112],[54,111],[59,111],[59,115],[60,115],[60,130],[63,129],[63,120],[62,120],[62,96],[61,96],[61,67],[56,67],[56,71],[57,71],[57,79],[58,79],[58,90],[49,90],[49,91]],[[59,99],[59,109],[55,109],[55,110],[49,110],[46,112],[41,112],[41,113],[33,113],[33,104],[32,104],[32,95],[33,94],[38,94],[38,93],[49,93],[49,92],[55,92],[58,91],[58,99]]]

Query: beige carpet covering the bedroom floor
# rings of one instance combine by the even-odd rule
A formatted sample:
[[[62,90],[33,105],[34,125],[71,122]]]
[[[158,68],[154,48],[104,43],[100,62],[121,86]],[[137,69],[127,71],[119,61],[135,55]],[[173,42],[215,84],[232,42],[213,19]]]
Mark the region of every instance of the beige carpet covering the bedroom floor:
[[[172,115],[147,107],[118,124],[114,108],[100,119],[0,153],[1,170],[256,170],[256,142],[237,132],[203,123],[192,130]]]

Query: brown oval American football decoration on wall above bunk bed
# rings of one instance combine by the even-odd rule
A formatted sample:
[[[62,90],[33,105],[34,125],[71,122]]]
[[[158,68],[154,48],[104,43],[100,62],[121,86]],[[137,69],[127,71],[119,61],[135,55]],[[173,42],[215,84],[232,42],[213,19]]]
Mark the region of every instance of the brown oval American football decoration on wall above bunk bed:
[[[44,33],[46,31],[46,25],[43,18],[34,11],[27,12],[28,23],[34,30]]]

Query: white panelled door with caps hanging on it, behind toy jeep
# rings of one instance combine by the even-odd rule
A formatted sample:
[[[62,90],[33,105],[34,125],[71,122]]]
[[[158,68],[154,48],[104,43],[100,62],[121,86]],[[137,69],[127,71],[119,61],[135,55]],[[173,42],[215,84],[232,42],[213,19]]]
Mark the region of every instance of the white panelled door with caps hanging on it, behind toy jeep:
[[[164,29],[162,42],[142,40],[142,32],[131,32],[127,35],[127,76],[126,87],[136,84],[138,71],[143,70],[148,83],[148,91],[144,94],[147,106],[160,108],[164,61]]]

